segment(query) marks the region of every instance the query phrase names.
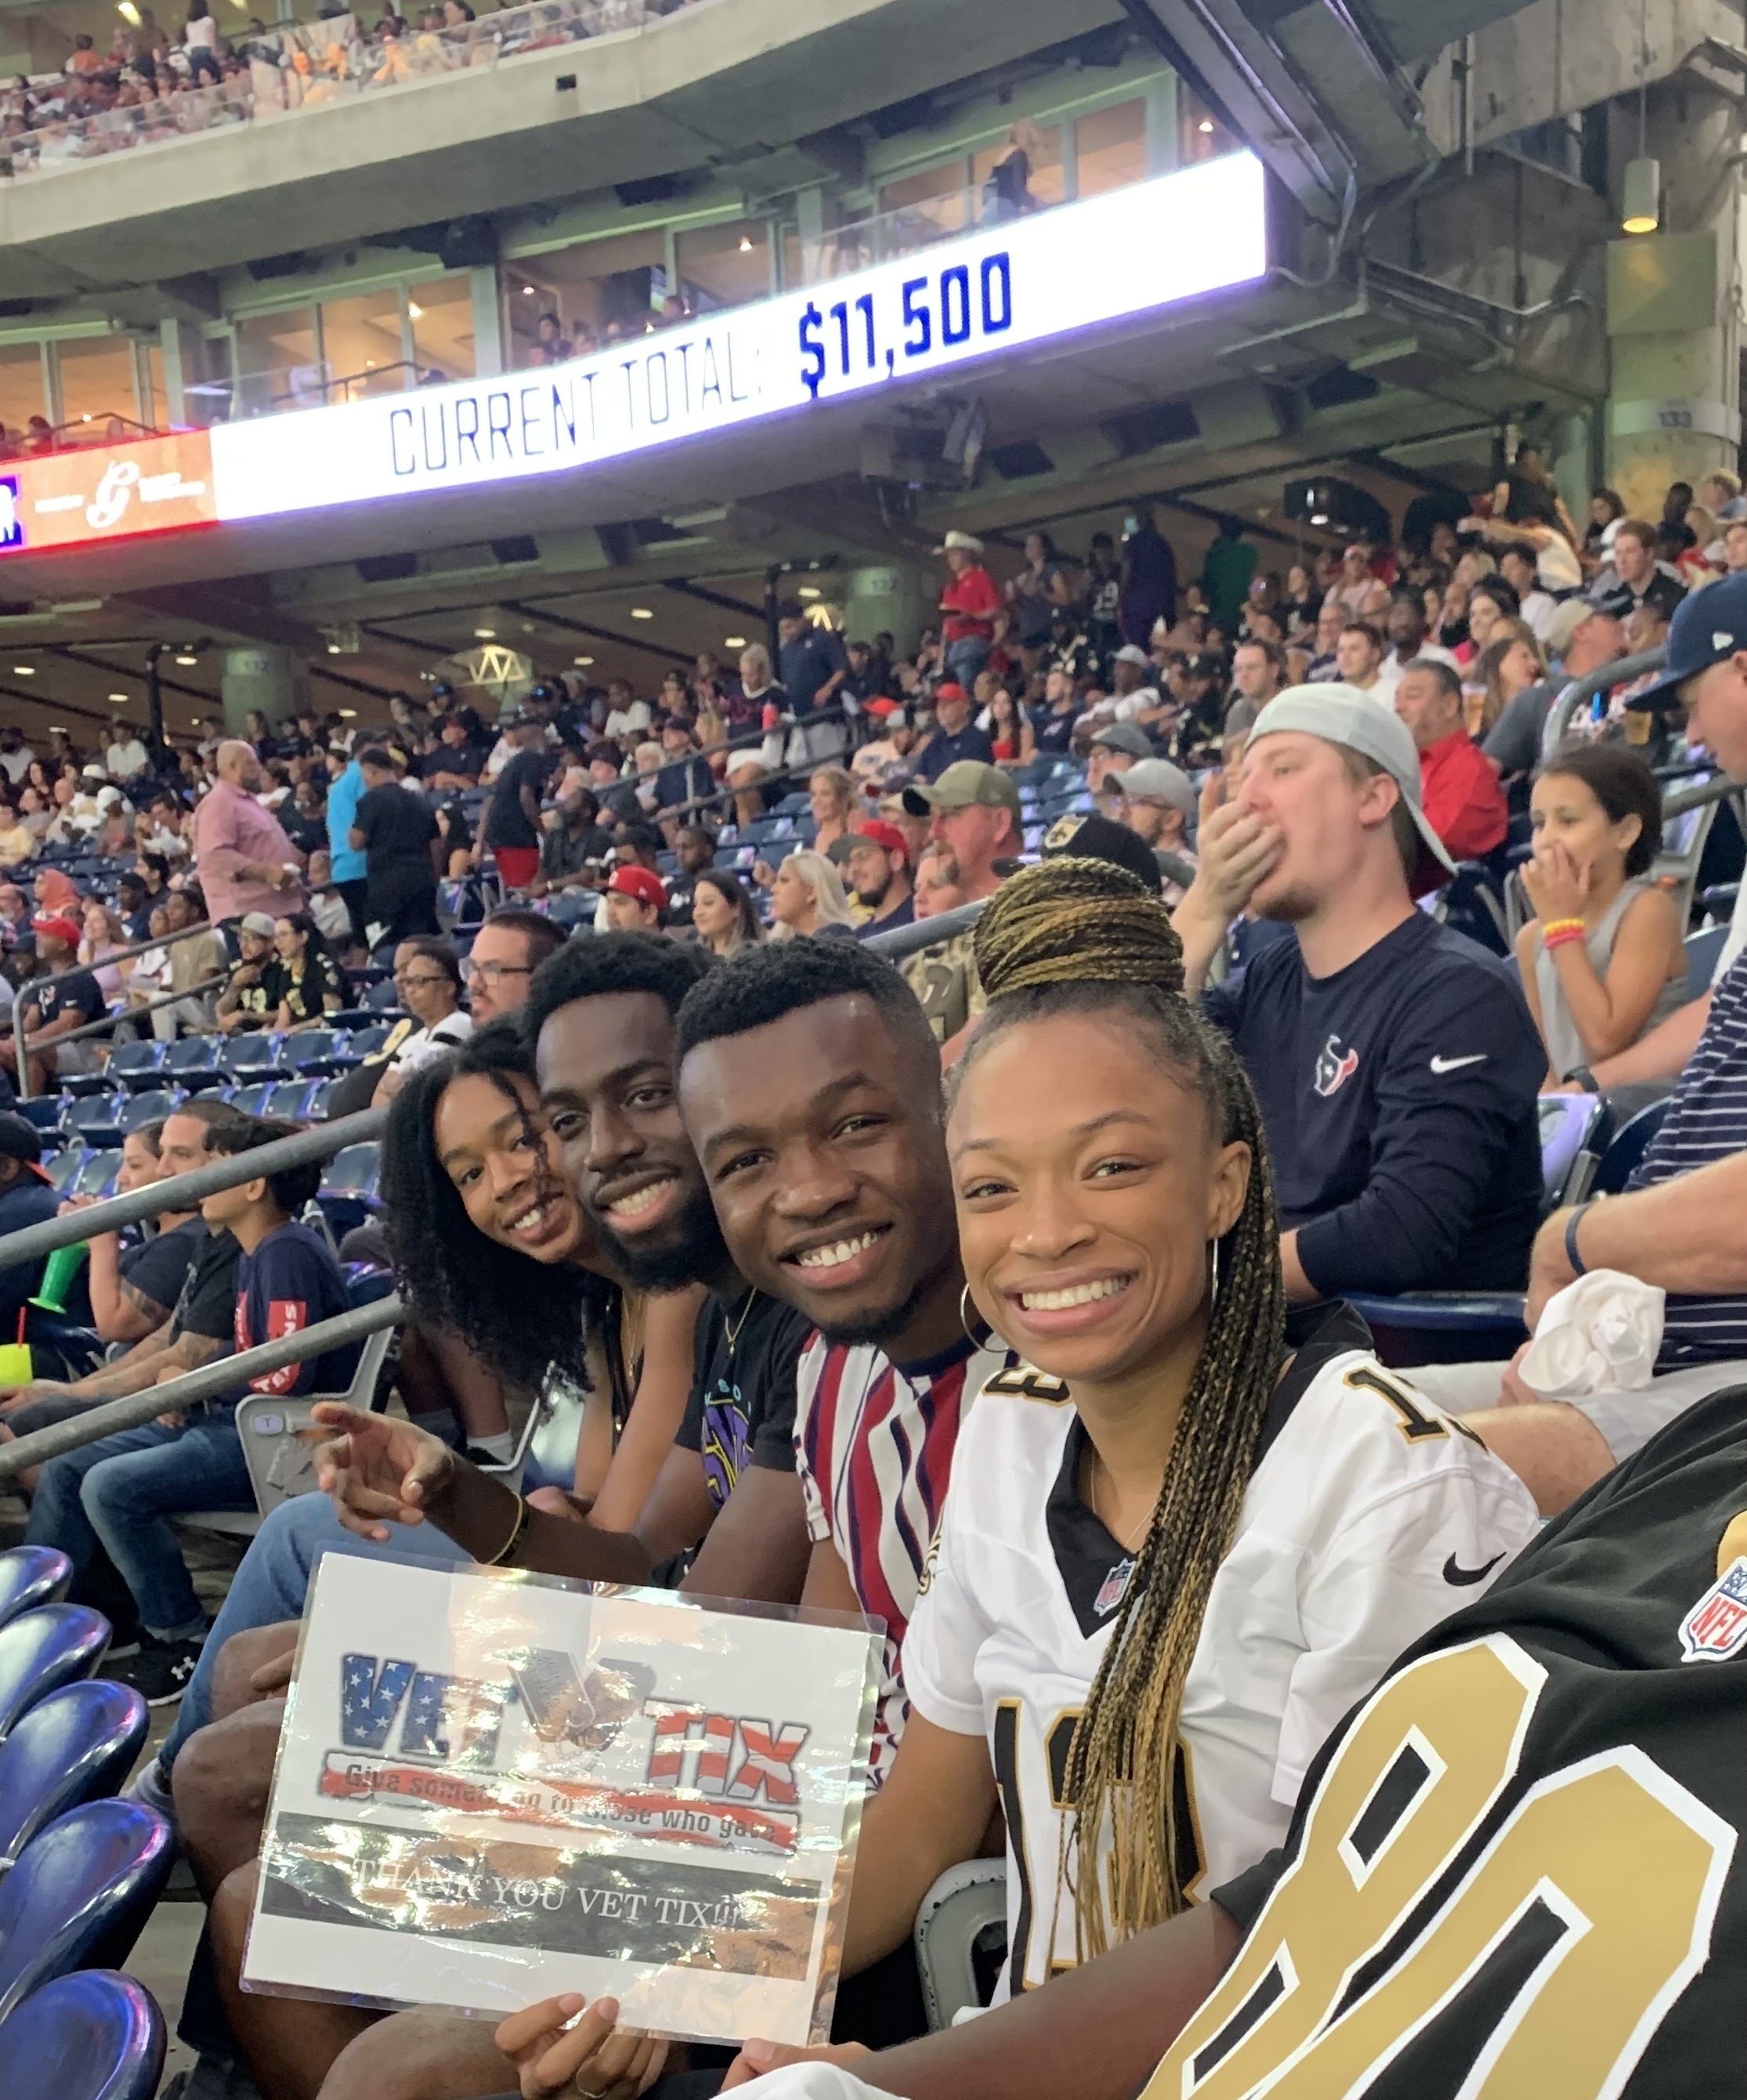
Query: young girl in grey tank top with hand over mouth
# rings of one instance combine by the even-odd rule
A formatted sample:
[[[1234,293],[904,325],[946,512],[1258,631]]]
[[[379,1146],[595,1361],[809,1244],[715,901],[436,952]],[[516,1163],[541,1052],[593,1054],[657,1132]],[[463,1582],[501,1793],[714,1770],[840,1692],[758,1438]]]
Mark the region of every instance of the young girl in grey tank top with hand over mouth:
[[[1560,752],[1535,781],[1531,811],[1535,859],[1522,886],[1537,916],[1516,937],[1516,958],[1558,1084],[1684,1004],[1686,951],[1674,903],[1648,880],[1661,790],[1636,752]]]

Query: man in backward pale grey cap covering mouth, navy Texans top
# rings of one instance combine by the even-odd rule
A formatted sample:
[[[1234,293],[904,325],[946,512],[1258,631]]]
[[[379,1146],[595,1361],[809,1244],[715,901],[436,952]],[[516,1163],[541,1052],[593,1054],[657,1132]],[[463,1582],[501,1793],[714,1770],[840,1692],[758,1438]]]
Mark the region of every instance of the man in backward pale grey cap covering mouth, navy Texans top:
[[[1201,991],[1262,1105],[1287,1296],[1522,1289],[1545,1054],[1506,964],[1413,905],[1451,859],[1407,724],[1352,687],[1293,687],[1237,800],[1218,794],[1174,924],[1191,989],[1243,909],[1298,932]]]

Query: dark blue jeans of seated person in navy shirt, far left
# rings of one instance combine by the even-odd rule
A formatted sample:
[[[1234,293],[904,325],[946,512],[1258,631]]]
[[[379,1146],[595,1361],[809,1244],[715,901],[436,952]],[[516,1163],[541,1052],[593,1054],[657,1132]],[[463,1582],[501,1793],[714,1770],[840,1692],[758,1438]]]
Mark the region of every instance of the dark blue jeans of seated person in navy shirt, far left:
[[[195,1415],[178,1430],[157,1422],[120,1430],[48,1460],[25,1537],[59,1546],[86,1575],[103,1546],[132,1590],[141,1625],[157,1640],[197,1640],[206,1613],[166,1518],[181,1510],[252,1510],[237,1424]]]

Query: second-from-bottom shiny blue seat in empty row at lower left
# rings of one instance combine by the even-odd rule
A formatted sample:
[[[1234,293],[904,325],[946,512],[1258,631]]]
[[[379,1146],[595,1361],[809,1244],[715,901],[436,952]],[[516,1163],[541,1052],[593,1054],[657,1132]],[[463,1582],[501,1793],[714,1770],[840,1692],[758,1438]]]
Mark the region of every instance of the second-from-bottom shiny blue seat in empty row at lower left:
[[[141,1802],[57,1816],[0,1880],[0,2020],[57,1976],[126,1961],[176,1840]]]

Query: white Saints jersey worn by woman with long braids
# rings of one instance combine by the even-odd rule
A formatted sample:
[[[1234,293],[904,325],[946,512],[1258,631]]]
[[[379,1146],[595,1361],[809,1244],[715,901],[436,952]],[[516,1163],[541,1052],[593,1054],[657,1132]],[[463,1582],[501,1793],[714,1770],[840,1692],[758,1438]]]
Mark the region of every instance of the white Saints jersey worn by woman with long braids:
[[[1537,1529],[1516,1474],[1384,1371],[1350,1308],[1298,1315],[1289,1342],[1184,1684],[1172,1793],[1193,1900],[1283,1842],[1335,1722]],[[903,1644],[913,1709],[989,1741],[1008,1825],[997,1997],[1075,1961],[1069,1743],[1132,1569],[1075,1491],[1083,1451],[1067,1386],[989,1380]]]

